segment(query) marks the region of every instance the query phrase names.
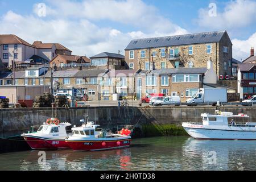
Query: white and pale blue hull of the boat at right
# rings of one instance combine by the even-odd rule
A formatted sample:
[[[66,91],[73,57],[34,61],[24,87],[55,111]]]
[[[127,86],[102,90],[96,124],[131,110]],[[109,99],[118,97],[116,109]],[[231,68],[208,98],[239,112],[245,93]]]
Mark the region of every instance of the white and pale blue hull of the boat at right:
[[[256,140],[256,129],[243,129],[241,127],[205,128],[201,126],[183,125],[185,131],[195,139],[214,140]]]

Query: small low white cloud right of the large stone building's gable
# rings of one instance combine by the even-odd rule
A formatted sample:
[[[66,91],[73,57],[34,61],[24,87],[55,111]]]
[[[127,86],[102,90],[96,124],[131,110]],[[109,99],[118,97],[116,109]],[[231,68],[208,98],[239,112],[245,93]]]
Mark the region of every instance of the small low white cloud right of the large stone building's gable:
[[[233,39],[233,57],[238,60],[245,60],[250,56],[250,49],[256,49],[256,32],[247,40]]]

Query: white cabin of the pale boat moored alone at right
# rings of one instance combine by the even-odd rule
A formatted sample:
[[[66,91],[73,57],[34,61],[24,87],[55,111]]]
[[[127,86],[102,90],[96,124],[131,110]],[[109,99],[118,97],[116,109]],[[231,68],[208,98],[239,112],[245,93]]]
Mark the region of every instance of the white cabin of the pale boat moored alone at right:
[[[233,115],[231,112],[218,112],[218,114],[201,114],[203,125],[225,125],[228,126],[232,118],[249,118],[246,114]],[[246,122],[245,125],[254,125],[254,123]],[[254,125],[255,127],[255,125]]]

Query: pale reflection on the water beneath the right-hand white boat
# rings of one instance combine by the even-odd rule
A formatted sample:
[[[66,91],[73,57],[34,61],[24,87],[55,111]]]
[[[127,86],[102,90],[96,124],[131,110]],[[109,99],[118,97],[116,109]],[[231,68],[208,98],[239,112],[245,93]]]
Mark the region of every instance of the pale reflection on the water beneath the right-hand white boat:
[[[254,170],[256,142],[189,138],[183,146],[183,156],[186,159],[184,169]]]

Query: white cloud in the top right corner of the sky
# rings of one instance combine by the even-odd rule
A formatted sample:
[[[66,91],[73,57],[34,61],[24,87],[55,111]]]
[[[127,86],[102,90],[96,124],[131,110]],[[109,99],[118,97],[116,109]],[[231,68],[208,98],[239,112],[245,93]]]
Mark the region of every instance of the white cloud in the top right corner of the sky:
[[[217,6],[217,16],[209,16],[209,9],[200,9],[196,22],[201,27],[229,29],[241,28],[256,22],[256,2],[236,0],[226,4],[223,12]]]

